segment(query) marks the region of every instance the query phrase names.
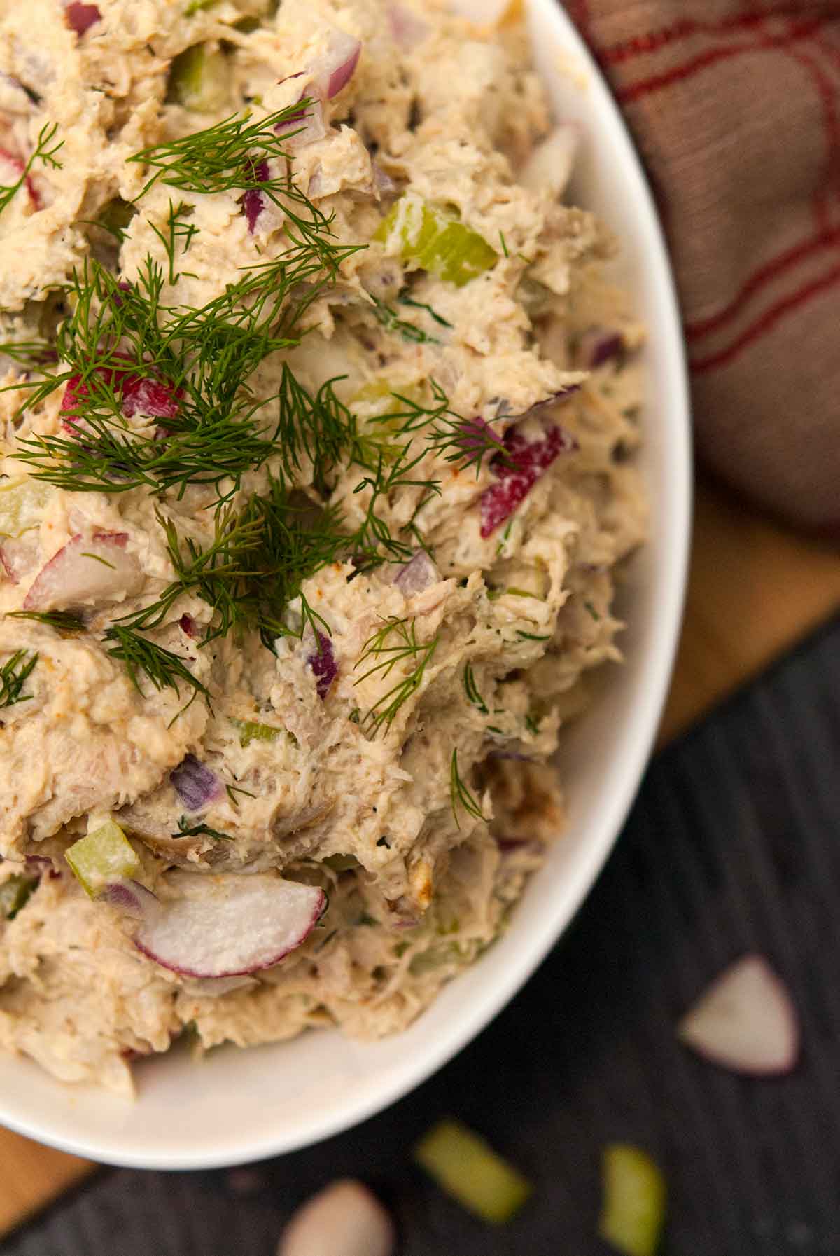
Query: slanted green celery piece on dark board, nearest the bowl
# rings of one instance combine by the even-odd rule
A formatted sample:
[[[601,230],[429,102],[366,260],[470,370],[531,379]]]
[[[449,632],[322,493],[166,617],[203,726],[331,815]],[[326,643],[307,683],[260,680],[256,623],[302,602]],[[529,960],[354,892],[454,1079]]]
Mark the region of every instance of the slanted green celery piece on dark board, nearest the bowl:
[[[465,1208],[497,1226],[531,1193],[531,1183],[457,1120],[441,1120],[414,1148],[414,1159]]]

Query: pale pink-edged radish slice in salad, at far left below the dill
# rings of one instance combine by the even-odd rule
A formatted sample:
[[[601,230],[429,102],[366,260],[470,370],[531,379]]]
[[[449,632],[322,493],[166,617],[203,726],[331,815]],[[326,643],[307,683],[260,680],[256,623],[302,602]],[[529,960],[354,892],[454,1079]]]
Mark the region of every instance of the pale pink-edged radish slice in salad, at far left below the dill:
[[[67,610],[137,593],[143,571],[127,543],[126,533],[73,536],[35,577],[24,610]]]

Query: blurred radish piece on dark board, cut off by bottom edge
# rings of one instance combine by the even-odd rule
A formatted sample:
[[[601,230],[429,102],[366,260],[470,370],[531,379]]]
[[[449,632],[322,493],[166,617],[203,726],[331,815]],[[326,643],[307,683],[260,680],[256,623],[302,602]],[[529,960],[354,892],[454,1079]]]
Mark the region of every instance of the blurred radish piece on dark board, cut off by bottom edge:
[[[333,1182],[308,1199],[286,1226],[277,1256],[390,1256],[394,1223],[362,1182]]]

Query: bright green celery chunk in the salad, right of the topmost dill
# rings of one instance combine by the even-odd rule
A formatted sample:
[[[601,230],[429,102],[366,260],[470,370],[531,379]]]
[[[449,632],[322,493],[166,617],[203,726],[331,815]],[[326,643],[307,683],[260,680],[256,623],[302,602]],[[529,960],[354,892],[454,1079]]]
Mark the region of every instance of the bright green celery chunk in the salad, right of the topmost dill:
[[[399,255],[463,288],[498,261],[483,236],[437,205],[407,192],[382,220],[374,240],[398,245]]]

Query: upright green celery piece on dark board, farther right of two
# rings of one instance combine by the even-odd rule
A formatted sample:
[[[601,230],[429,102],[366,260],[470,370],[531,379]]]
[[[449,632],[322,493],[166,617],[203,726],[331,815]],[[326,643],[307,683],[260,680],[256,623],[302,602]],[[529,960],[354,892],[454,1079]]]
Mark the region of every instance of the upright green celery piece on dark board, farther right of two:
[[[659,1167],[638,1147],[610,1143],[604,1148],[601,1173],[599,1235],[625,1256],[655,1256],[667,1202]]]

